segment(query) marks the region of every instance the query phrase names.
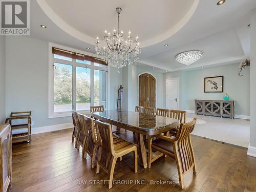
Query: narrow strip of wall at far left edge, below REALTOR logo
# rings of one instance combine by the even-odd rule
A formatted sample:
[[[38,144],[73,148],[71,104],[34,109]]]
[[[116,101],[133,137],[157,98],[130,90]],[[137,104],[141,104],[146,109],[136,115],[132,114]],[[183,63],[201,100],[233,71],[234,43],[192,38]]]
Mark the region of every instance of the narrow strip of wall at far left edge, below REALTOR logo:
[[[5,122],[5,36],[0,36],[0,124]]]

